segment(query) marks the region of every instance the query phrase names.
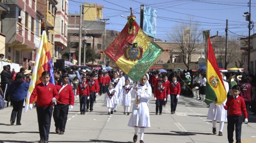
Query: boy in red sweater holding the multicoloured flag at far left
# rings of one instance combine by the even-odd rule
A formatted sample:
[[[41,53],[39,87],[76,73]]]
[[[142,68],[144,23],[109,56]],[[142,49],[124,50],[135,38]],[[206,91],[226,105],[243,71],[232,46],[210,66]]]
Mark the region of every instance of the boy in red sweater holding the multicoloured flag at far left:
[[[40,134],[39,142],[48,142],[53,103],[59,99],[56,87],[49,82],[50,73],[45,71],[41,74],[42,82],[35,86],[29,99],[29,109],[33,108],[33,101],[37,96],[36,113],[38,114],[38,127]]]

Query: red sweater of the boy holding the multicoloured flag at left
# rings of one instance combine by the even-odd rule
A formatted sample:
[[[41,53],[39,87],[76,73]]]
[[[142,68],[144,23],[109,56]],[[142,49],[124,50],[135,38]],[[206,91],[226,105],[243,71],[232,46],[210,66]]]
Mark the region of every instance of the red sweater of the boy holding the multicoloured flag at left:
[[[33,103],[35,97],[37,97],[37,107],[48,107],[53,106],[52,98],[56,98],[56,100],[59,99],[59,94],[56,87],[52,83],[49,82],[45,87],[45,85],[41,82],[35,86],[29,99],[30,104]]]

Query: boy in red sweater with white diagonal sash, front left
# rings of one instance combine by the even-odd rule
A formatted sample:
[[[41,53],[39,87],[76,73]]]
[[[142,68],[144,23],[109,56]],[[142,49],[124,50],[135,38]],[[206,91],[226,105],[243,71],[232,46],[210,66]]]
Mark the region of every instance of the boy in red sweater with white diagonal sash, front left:
[[[56,85],[59,94],[57,105],[54,106],[53,119],[55,122],[55,131],[58,134],[64,134],[68,112],[72,111],[74,106],[74,92],[71,85],[68,84],[69,75],[62,76],[62,82]]]

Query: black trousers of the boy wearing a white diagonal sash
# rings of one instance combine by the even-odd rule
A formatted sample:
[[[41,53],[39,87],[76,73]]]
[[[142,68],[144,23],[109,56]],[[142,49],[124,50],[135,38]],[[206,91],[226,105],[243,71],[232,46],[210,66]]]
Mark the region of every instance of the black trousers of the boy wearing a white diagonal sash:
[[[53,119],[55,127],[65,132],[66,120],[68,119],[69,105],[59,104],[54,106]]]

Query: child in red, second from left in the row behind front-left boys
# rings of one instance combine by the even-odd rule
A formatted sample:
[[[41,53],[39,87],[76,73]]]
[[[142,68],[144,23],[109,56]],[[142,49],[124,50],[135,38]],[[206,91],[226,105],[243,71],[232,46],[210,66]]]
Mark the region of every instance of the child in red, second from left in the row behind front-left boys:
[[[87,111],[90,105],[90,112],[93,112],[94,98],[96,98],[96,96],[99,95],[99,91],[100,91],[99,82],[95,80],[94,73],[90,74],[90,79],[88,80],[87,83],[89,84],[89,90],[90,90],[90,99],[89,101],[87,100]]]

